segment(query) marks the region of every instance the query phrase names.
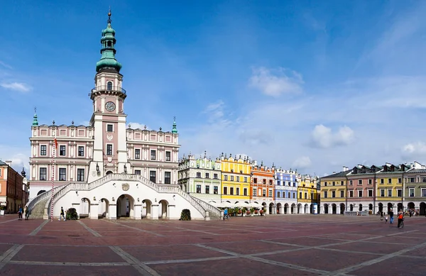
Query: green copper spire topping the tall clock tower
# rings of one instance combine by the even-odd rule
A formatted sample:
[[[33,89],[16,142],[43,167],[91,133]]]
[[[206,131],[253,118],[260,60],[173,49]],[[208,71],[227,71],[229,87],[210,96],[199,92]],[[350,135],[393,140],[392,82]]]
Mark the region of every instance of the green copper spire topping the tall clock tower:
[[[99,72],[103,69],[112,69],[117,73],[121,70],[121,63],[118,62],[115,58],[116,50],[115,50],[115,31],[111,27],[111,9],[109,9],[108,13],[108,25],[107,28],[102,31],[101,38],[101,60],[96,63],[96,72]]]

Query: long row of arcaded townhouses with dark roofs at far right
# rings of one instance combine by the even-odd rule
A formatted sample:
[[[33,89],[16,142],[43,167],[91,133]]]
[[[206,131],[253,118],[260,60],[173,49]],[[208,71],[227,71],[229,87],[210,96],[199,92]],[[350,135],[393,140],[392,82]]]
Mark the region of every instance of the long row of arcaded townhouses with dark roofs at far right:
[[[344,167],[342,172],[321,177],[320,182],[322,214],[344,214],[344,211],[376,214],[391,209],[426,213],[426,187],[423,186],[426,166],[418,162],[356,165],[351,170]]]

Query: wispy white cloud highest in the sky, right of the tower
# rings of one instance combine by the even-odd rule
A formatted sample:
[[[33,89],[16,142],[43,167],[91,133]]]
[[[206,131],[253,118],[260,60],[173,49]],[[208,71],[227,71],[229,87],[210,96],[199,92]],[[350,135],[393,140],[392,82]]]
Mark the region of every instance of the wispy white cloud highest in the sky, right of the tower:
[[[286,70],[280,68],[273,74],[266,67],[254,68],[249,79],[249,85],[260,90],[268,96],[280,96],[281,94],[302,92],[302,76],[295,71],[290,72],[290,76],[285,74]]]

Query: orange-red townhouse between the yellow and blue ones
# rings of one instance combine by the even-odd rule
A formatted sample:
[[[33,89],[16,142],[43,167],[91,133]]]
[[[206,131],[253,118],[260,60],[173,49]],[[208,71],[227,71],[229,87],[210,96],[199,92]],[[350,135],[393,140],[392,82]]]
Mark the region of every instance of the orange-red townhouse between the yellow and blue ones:
[[[250,199],[266,207],[268,214],[275,214],[275,167],[251,166]]]

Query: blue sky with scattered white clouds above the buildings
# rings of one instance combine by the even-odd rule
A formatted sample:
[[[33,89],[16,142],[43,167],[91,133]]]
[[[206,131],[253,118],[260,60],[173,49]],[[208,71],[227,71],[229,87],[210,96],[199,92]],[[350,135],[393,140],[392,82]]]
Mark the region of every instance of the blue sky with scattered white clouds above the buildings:
[[[40,123],[87,123],[109,5],[133,127],[197,155],[324,175],[426,162],[423,1],[6,1],[0,158]]]

